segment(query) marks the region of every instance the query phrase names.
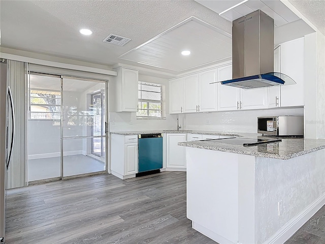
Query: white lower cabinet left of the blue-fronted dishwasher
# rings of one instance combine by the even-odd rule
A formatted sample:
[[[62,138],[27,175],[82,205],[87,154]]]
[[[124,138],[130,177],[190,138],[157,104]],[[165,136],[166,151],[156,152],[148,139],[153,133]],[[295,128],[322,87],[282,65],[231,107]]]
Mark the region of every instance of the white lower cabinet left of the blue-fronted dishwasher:
[[[138,135],[111,135],[111,173],[121,179],[138,173]]]

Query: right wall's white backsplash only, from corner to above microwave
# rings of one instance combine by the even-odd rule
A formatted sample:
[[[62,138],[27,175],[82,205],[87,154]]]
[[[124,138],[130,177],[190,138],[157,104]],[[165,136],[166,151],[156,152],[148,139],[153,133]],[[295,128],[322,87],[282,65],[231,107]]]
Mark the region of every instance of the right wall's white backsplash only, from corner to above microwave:
[[[220,111],[179,115],[186,130],[257,133],[257,117],[275,115],[303,115],[303,108]],[[207,125],[207,120],[210,125]]]

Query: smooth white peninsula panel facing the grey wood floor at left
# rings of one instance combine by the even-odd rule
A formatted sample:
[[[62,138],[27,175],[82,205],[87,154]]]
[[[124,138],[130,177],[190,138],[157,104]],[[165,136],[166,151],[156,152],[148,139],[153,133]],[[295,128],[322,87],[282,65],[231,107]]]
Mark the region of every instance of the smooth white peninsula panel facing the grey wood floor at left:
[[[187,218],[215,241],[237,243],[239,155],[189,147],[186,151]]]

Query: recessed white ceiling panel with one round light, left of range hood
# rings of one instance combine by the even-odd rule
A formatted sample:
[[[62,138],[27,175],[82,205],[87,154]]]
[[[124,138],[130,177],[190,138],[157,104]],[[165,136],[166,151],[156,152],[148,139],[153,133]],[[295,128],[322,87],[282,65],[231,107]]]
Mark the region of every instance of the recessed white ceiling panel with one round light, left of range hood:
[[[183,50],[189,50],[191,54],[183,56]],[[231,56],[231,35],[190,17],[119,58],[170,71],[185,72],[230,60]]]

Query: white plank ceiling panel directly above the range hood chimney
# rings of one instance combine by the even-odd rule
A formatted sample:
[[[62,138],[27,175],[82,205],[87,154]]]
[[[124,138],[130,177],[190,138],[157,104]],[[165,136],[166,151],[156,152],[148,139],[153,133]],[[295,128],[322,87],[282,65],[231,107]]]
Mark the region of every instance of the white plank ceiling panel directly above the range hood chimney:
[[[242,0],[220,0],[220,1],[209,1],[209,0],[196,0],[196,2],[202,4],[203,6],[215,11],[216,13],[221,13],[236,4],[243,2]],[[274,19],[275,26],[281,26],[299,19],[299,17],[288,9],[282,2],[274,0],[249,0],[220,16],[233,21],[244,15],[247,15],[255,10],[262,10],[267,15]]]

